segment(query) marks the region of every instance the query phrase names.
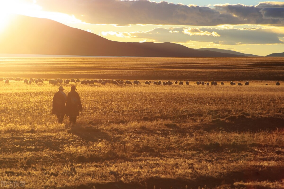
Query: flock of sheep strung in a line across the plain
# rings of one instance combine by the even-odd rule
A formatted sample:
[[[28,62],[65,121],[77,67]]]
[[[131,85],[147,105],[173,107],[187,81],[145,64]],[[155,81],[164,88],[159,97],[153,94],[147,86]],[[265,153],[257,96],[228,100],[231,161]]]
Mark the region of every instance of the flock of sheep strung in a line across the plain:
[[[82,80],[80,81],[80,79],[41,79],[41,78],[30,78],[29,80],[28,79],[22,79],[20,77],[17,77],[17,78],[13,78],[13,77],[1,77],[0,78],[0,81],[4,82],[5,83],[9,83],[10,80],[14,80],[14,81],[24,81],[24,83],[26,84],[32,84],[32,83],[43,83],[44,81],[48,81],[50,84],[53,84],[53,85],[57,85],[57,84],[62,84],[62,83],[66,83],[66,84],[69,84],[69,83],[80,83],[80,84],[94,84],[94,83],[101,83],[102,85],[105,85],[106,83],[110,83],[110,84],[115,84],[115,85],[122,85],[122,84],[125,84],[125,85],[139,85],[141,84],[140,81],[138,80],[134,80],[133,82],[132,81],[129,81],[129,80],[114,80],[114,79],[93,79],[93,80],[88,80],[88,79],[85,79],[85,80]],[[173,85],[173,84],[179,84],[179,85],[183,85],[183,81],[145,81],[144,82],[145,85],[150,85],[150,84],[153,84],[153,85]],[[189,81],[185,81],[185,84],[186,85],[189,85]],[[196,83],[194,83],[196,85],[217,85],[217,82],[216,81],[211,81],[211,83],[207,82],[205,83],[204,81],[196,81]],[[221,82],[220,83],[221,85],[224,85],[224,82]],[[238,85],[238,86],[241,86],[243,85],[242,83],[234,83],[233,81],[230,82],[230,85]],[[249,81],[245,82],[244,85],[249,85]],[[268,85],[268,84],[265,84],[265,85]],[[280,85],[279,82],[276,82],[276,85]]]

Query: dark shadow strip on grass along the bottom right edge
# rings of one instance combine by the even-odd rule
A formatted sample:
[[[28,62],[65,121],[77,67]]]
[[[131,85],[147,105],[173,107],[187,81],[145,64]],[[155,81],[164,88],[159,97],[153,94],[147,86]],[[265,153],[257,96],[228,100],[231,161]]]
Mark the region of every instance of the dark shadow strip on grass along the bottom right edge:
[[[161,188],[161,189],[185,189],[185,188],[198,188],[206,187],[214,188],[220,186],[221,188],[235,188],[235,182],[250,182],[250,181],[270,181],[275,182],[280,181],[284,178],[284,167],[276,166],[258,166],[250,167],[241,171],[229,172],[226,175],[220,176],[220,178],[201,175],[197,176],[193,180],[185,180],[181,178],[172,179],[172,178],[160,178],[160,177],[150,177],[146,179],[142,184],[141,183],[124,183],[122,181],[118,182],[105,182],[105,183],[96,183],[89,182],[86,184],[81,184],[74,187],[62,187],[61,189],[73,188],[73,189],[106,189],[106,188],[124,188],[124,189],[152,189],[152,188]],[[262,188],[268,189],[268,186],[263,186]]]

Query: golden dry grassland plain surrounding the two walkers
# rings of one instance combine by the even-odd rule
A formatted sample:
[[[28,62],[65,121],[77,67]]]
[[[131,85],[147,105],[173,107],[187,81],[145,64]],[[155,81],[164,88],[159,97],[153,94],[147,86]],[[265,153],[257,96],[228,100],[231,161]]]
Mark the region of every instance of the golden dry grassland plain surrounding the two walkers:
[[[232,71],[225,58],[218,63],[227,66],[222,70],[214,69],[218,58],[200,59],[208,67],[197,70],[162,68],[185,58],[139,58],[123,71],[126,62],[119,64],[120,59],[108,63],[109,59],[92,59],[97,61],[94,65],[86,59],[85,70],[83,58],[1,60],[1,77],[147,77],[189,80],[190,85],[77,84],[83,111],[70,129],[66,119],[57,124],[51,114],[58,86],[0,82],[0,181],[62,189],[284,188],[284,87],[281,82],[275,86],[273,80],[283,81],[283,65],[279,66],[283,60],[234,59],[240,69]],[[157,63],[160,60],[168,62]],[[194,63],[191,58],[187,61]],[[242,66],[259,62],[273,65]],[[145,64],[149,66],[139,70]],[[241,77],[235,71],[246,79],[231,79]],[[195,77],[210,81],[212,76],[206,75],[217,72],[214,80],[224,81],[224,86],[193,84]],[[276,76],[269,75],[272,72]],[[251,81],[258,75],[266,79]],[[249,80],[250,85],[230,86],[231,80]],[[63,85],[66,93],[71,85]]]

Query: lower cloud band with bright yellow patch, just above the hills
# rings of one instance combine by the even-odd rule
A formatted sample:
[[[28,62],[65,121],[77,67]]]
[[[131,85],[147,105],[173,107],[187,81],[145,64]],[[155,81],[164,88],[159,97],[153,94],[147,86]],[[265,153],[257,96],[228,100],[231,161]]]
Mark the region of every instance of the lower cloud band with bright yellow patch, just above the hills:
[[[199,41],[220,45],[282,44],[283,40],[279,39],[279,37],[284,36],[267,28],[217,29],[185,27],[154,28],[147,32],[102,32],[102,34],[141,38],[156,42],[190,43],[191,41]]]

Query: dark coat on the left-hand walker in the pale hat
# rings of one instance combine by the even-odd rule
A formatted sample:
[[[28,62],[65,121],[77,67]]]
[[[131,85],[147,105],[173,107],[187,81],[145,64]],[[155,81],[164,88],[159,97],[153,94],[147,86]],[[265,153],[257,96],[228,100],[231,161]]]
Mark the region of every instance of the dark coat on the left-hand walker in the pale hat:
[[[65,115],[66,113],[65,102],[66,99],[60,91],[55,93],[52,102],[52,114]]]

